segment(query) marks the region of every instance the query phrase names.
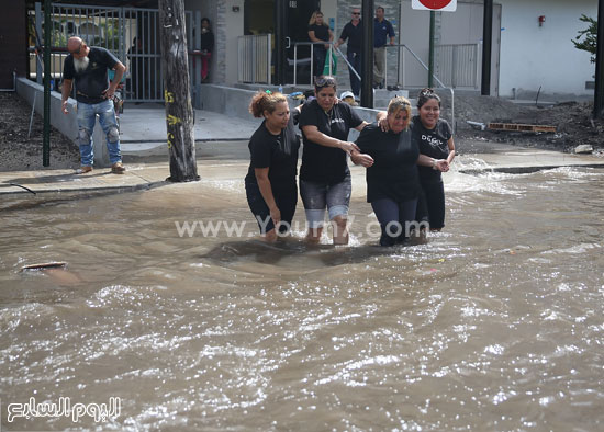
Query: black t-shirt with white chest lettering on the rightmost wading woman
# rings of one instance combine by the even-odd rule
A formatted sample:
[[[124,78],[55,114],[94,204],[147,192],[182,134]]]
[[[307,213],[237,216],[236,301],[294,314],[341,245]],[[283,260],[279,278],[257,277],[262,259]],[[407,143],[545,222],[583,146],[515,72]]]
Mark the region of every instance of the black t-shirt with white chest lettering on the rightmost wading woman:
[[[447,159],[449,156],[449,138],[452,136],[451,127],[446,120],[438,118],[434,129],[426,129],[416,115],[412,120],[413,140],[422,155],[435,159]],[[418,167],[420,181],[422,183],[439,183],[443,181],[440,171],[432,167]]]

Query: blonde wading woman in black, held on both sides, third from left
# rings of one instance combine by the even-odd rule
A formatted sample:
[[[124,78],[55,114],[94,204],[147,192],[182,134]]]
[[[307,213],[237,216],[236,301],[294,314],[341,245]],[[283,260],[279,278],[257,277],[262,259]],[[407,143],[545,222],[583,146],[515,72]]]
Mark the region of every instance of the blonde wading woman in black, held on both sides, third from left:
[[[357,138],[359,150],[351,159],[367,168],[367,202],[380,223],[380,246],[394,246],[410,236],[420,196],[417,164],[446,170],[444,160],[420,155],[409,127],[411,103],[393,98],[385,115],[388,132],[378,122],[368,125]]]

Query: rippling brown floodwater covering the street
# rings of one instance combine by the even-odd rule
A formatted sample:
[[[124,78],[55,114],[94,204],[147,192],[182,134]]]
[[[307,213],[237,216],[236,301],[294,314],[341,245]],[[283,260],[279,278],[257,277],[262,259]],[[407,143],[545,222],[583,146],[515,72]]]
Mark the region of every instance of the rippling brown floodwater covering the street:
[[[2,430],[602,430],[604,170],[445,180],[445,230],[385,249],[363,194],[338,248],[300,200],[264,245],[241,180],[3,195]]]

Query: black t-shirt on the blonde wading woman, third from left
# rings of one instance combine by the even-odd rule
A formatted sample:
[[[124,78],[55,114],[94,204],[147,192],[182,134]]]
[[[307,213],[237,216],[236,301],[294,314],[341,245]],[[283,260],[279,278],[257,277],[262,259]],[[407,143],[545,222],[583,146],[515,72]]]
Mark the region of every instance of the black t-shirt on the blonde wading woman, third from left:
[[[361,130],[357,146],[373,158],[367,169],[367,202],[389,198],[414,200],[420,190],[417,158],[420,150],[411,139],[411,130],[399,134],[382,132],[378,123]]]

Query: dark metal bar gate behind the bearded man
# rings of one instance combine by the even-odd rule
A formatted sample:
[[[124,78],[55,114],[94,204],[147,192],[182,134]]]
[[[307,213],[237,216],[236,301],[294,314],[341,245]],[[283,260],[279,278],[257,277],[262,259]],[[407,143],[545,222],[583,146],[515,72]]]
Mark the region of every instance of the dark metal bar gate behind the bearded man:
[[[40,35],[36,45],[43,37],[43,13],[41,3],[29,11],[30,22],[35,25]],[[87,45],[109,49],[124,65],[123,96],[132,102],[163,102],[164,71],[159,41],[159,11],[157,9],[107,8],[81,4],[53,3],[51,11],[51,68],[55,82],[63,76],[63,65],[67,57],[67,39],[81,37]],[[191,46],[192,13],[186,12],[187,41]],[[42,65],[31,47],[30,71],[42,77]],[[188,49],[191,53],[191,49]],[[194,62],[189,58],[189,75],[193,77]],[[193,86],[191,86],[193,89]]]

